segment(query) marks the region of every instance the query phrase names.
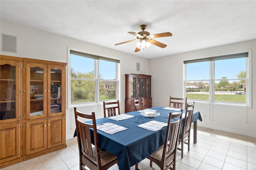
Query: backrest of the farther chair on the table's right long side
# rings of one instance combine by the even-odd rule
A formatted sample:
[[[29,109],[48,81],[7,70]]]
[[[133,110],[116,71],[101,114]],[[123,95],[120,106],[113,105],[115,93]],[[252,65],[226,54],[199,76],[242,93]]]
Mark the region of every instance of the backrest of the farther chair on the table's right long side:
[[[191,104],[187,103],[187,105],[186,105],[186,112],[185,112],[185,117],[184,117],[184,123],[183,123],[182,130],[181,130],[181,132],[183,134],[186,134],[190,130],[191,123],[192,123],[194,106],[195,106],[195,102],[193,102]]]

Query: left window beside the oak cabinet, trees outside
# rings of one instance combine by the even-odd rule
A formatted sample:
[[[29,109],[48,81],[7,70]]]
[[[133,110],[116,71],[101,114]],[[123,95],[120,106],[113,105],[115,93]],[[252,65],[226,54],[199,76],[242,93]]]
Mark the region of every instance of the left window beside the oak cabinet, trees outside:
[[[70,105],[118,100],[119,60],[70,50]]]

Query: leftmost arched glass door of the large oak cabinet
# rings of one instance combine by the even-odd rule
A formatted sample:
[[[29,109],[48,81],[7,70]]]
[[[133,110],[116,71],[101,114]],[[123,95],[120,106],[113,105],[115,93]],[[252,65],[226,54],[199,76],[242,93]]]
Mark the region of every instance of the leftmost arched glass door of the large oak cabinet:
[[[19,119],[20,62],[1,61],[0,64],[0,120]],[[18,114],[18,115],[17,115]],[[16,121],[16,120],[14,120]]]

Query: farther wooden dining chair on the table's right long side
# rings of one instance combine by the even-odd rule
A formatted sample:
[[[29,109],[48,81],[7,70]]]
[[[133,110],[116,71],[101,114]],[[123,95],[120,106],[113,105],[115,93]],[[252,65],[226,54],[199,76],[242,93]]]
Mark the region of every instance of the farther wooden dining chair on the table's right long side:
[[[192,123],[192,117],[193,117],[193,111],[194,111],[194,105],[195,102],[192,104],[186,105],[186,112],[184,117],[184,123],[181,127],[180,135],[179,135],[179,144],[181,143],[181,148],[177,148],[178,150],[181,150],[181,158],[183,158],[183,145],[188,145],[188,151],[190,150],[190,130],[191,130],[191,123]]]

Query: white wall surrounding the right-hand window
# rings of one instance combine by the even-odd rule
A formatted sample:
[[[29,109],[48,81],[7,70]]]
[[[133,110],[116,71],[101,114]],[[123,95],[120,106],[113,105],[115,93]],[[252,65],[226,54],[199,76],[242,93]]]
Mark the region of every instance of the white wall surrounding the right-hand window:
[[[183,61],[244,50],[252,50],[252,108],[196,102],[195,110],[203,119],[198,126],[256,137],[256,40],[150,59],[152,106],[168,106],[170,96],[183,96]]]

